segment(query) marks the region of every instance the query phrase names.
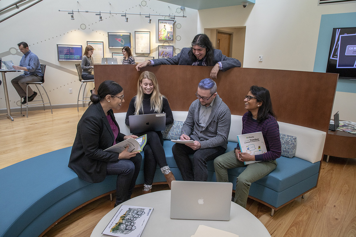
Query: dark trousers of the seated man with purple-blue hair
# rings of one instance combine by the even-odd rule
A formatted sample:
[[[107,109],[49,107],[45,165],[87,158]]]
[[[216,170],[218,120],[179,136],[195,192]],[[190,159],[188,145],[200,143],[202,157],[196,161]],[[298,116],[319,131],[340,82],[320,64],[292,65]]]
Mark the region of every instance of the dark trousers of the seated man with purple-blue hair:
[[[224,154],[226,149],[222,146],[193,150],[189,146],[176,143],[172,147],[173,157],[176,160],[184,181],[207,181],[208,167],[206,162],[214,160]],[[193,155],[194,172],[189,155]]]

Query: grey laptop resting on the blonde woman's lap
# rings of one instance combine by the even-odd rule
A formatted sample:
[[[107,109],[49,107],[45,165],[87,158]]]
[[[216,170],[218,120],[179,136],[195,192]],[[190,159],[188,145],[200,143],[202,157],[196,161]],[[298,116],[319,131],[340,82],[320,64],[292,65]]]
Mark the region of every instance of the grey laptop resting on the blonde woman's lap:
[[[130,133],[163,131],[166,129],[166,113],[130,115]]]

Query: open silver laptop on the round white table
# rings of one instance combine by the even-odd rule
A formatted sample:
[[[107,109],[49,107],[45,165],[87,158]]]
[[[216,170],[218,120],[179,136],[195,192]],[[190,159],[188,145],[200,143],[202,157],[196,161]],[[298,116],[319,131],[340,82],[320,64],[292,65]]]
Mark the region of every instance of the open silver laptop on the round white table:
[[[171,218],[230,220],[232,183],[172,181]]]

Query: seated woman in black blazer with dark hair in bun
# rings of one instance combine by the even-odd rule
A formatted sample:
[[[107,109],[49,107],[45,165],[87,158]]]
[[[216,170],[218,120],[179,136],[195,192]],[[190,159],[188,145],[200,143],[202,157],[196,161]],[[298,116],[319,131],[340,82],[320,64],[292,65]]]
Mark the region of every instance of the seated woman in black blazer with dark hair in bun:
[[[105,149],[135,135],[120,133],[112,109],[120,109],[124,103],[124,91],[114,81],[104,81],[97,95],[91,95],[90,104],[77,126],[68,167],[78,177],[90,183],[103,181],[107,174],[116,174],[116,203],[129,200],[140,172],[140,152],[107,152]]]

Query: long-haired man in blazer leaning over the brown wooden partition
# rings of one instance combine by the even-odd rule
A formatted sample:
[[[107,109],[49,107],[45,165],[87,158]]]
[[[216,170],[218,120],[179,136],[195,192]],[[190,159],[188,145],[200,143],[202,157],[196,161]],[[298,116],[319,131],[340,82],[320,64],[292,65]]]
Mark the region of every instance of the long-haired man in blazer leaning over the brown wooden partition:
[[[193,65],[193,66],[214,66],[210,72],[211,78],[216,78],[219,70],[226,71],[230,68],[240,68],[241,63],[235,58],[229,58],[219,49],[214,49],[209,37],[206,34],[197,34],[191,48],[183,48],[179,54],[171,58],[152,59],[137,64],[136,69],[140,71],[147,65]]]

